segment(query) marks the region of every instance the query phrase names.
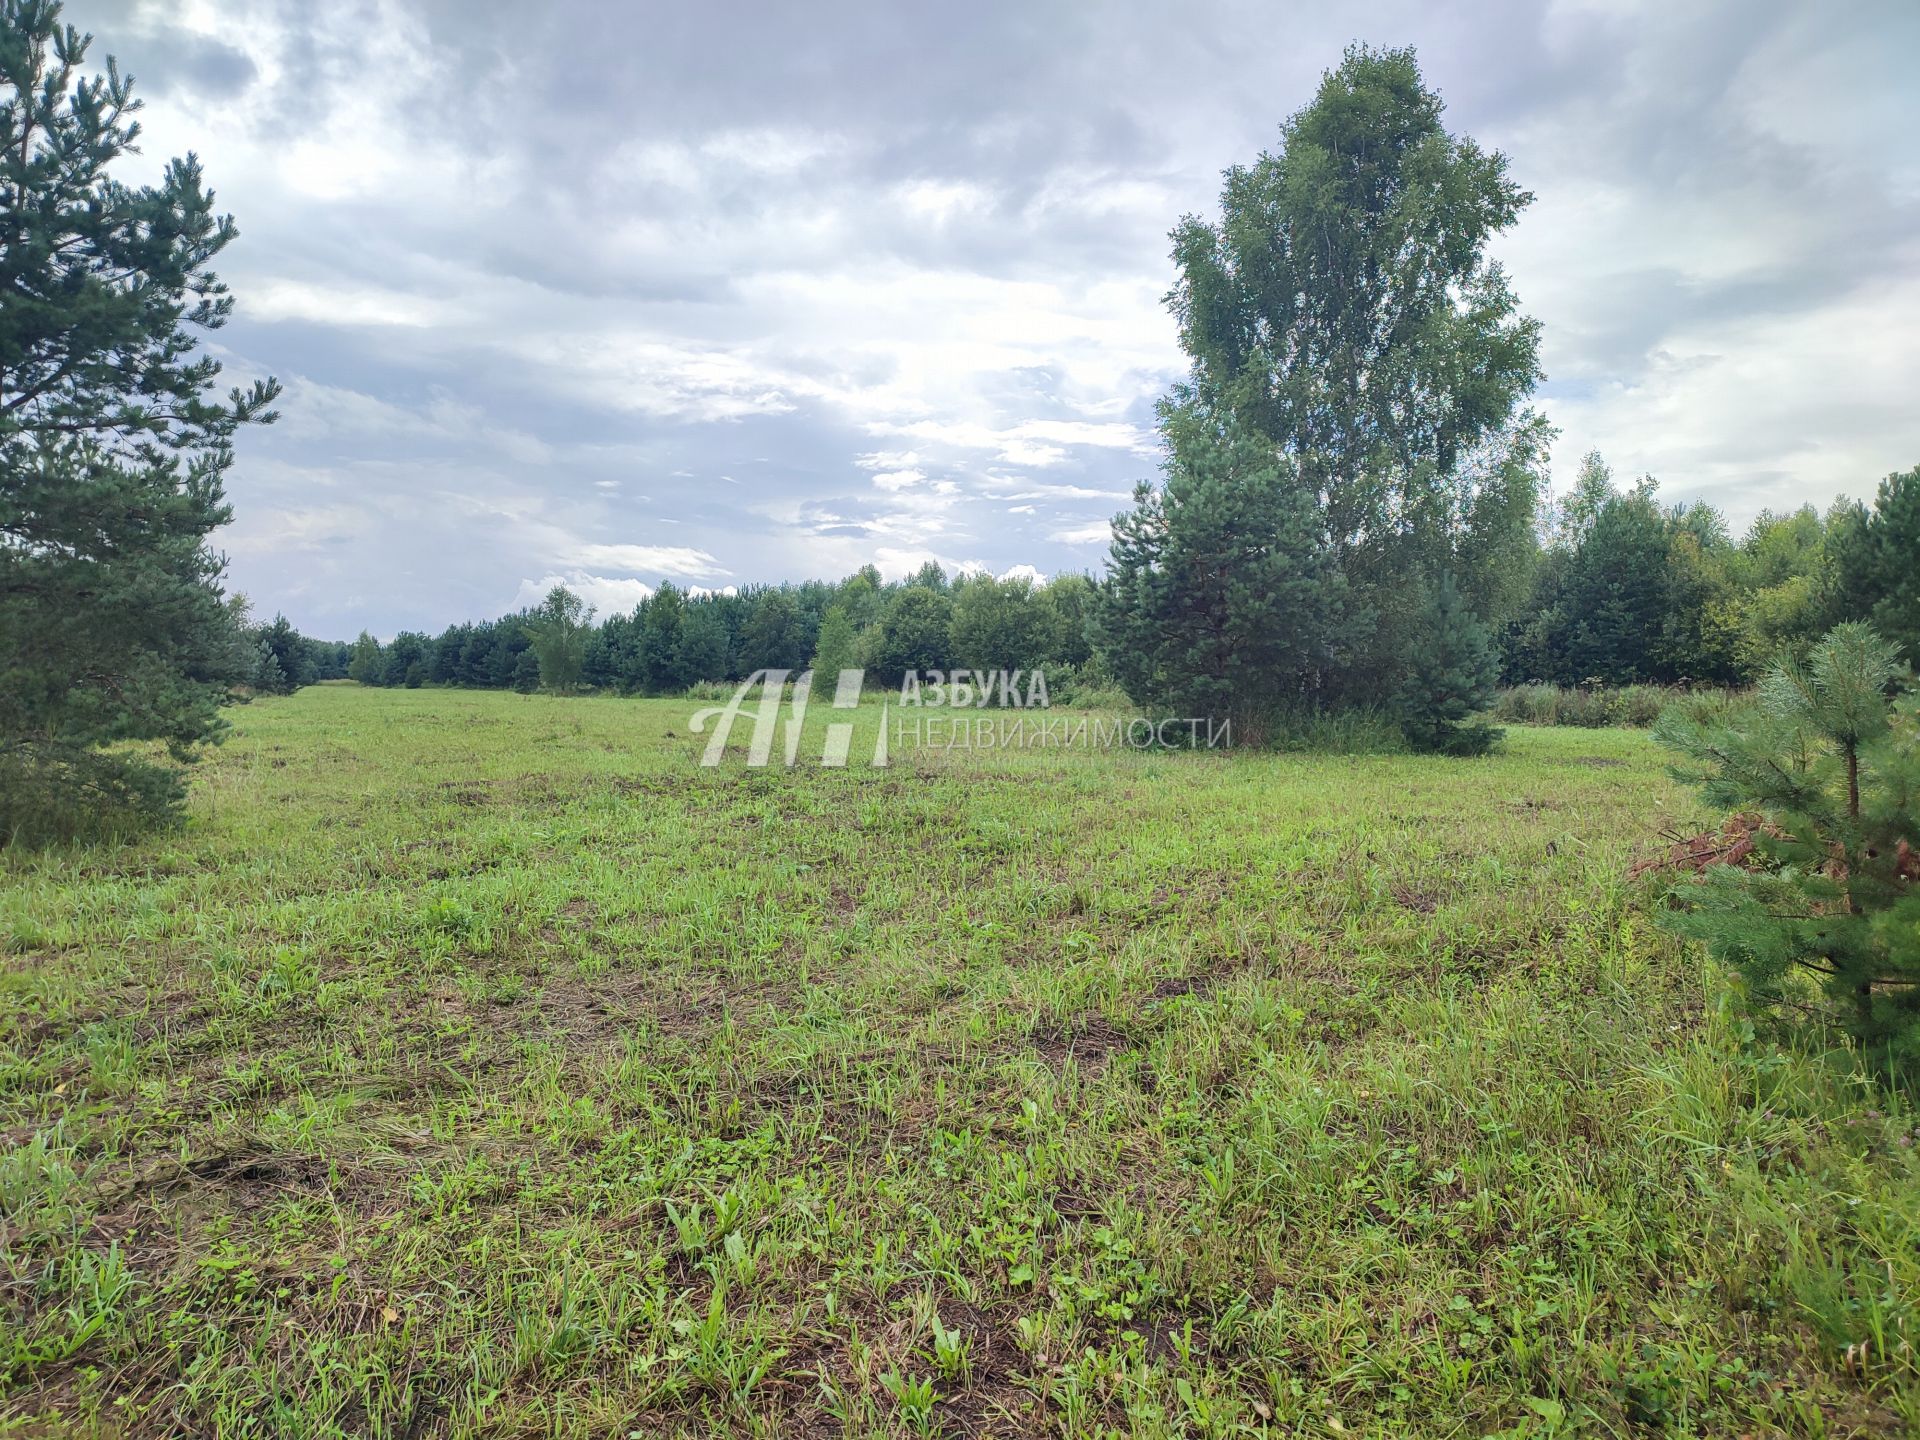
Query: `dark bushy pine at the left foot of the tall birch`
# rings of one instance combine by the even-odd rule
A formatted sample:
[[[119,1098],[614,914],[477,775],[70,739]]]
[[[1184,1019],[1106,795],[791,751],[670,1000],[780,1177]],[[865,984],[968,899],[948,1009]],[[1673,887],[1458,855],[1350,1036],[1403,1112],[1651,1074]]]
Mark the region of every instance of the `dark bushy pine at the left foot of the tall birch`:
[[[1102,651],[1144,707],[1252,735],[1311,703],[1367,630],[1292,463],[1244,426],[1167,405],[1167,474],[1114,520]]]

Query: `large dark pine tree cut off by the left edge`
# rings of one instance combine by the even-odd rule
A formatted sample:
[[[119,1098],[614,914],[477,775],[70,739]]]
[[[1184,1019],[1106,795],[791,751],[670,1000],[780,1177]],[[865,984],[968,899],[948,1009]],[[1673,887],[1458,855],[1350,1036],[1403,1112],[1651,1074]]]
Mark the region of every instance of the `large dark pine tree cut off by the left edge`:
[[[200,161],[131,188],[132,84],[50,0],[0,0],[0,841],[175,814],[175,760],[221,733],[236,664],[207,536],[234,432],[273,380],[211,390],[200,330],[232,298],[234,238]]]

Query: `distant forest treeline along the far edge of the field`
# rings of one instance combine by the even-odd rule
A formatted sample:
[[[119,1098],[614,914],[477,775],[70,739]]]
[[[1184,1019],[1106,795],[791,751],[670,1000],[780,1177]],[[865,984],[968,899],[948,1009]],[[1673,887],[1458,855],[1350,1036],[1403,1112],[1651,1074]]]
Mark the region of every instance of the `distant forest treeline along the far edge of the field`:
[[[1872,503],[1763,513],[1734,538],[1711,505],[1661,505],[1651,480],[1615,486],[1599,455],[1515,557],[1523,599],[1498,628],[1507,684],[1745,685],[1843,620],[1872,620],[1920,653],[1920,467]],[[760,668],[1046,668],[1071,693],[1116,687],[1125,668],[1102,624],[1110,597],[1083,574],[1044,584],[927,564],[887,584],[872,566],[839,582],[687,593],[662,586],[599,622],[541,607],[388,643],[309,641],[284,618],[259,630],[261,689],[353,678],[367,685],[541,687],[536,639],[559,624],[549,687],[672,695]],[[557,609],[559,605],[559,609]],[[572,672],[568,674],[568,666]],[[1050,684],[1056,678],[1050,676]]]

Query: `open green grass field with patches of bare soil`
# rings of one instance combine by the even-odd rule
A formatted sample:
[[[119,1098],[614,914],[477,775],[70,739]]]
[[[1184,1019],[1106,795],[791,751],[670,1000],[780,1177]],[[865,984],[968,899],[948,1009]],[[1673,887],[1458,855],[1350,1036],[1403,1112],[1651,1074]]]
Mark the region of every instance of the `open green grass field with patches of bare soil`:
[[[1914,1116],[1649,925],[1645,735],[691,710],[313,687],[186,831],[0,856],[17,1432],[1920,1423]]]

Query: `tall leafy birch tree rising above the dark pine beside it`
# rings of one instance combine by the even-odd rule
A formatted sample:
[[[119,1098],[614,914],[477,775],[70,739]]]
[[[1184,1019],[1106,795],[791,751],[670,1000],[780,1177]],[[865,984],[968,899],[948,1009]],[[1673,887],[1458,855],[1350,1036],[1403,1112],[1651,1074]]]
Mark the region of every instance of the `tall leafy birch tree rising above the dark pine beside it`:
[[[1380,699],[1419,576],[1452,568],[1496,618],[1523,595],[1546,426],[1521,409],[1540,326],[1492,240],[1532,200],[1442,125],[1411,50],[1356,46],[1227,171],[1219,221],[1173,232],[1192,396],[1283,457],[1340,572],[1380,620],[1348,687]]]

